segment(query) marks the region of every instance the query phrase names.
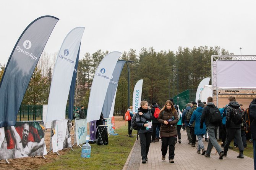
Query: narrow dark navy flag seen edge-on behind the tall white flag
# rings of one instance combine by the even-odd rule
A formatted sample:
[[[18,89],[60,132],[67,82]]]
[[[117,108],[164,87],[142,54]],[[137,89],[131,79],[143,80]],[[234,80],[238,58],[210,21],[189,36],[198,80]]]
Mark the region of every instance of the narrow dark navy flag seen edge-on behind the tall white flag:
[[[80,43],[81,46],[81,43]],[[76,87],[76,75],[77,75],[77,67],[78,67],[78,59],[79,59],[79,51],[76,57],[76,65],[73,72],[73,77],[71,80],[70,90],[69,90],[69,100],[68,100],[68,119],[73,120],[73,112],[74,112],[74,95],[75,95],[75,87]]]

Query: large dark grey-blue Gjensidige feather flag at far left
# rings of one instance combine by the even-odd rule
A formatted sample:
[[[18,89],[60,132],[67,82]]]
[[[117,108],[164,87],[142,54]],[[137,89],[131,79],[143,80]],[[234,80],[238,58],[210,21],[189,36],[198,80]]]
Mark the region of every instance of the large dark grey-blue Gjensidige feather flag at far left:
[[[37,18],[19,37],[0,83],[0,127],[14,126],[36,64],[58,18]]]

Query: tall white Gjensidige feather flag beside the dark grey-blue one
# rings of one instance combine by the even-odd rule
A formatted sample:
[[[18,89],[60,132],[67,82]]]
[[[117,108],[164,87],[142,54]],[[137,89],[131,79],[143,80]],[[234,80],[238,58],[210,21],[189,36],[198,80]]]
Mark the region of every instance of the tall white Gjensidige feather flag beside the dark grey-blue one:
[[[46,122],[65,119],[68,92],[84,27],[71,30],[58,53],[52,75]]]

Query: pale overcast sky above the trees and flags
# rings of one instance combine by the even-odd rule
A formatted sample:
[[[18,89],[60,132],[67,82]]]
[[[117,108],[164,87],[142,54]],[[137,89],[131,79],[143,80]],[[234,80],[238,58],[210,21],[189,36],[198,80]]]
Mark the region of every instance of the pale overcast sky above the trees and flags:
[[[34,19],[57,22],[45,52],[58,52],[68,32],[85,27],[86,52],[142,47],[176,51],[179,46],[220,46],[256,55],[255,0],[4,0],[0,10],[0,63],[6,64],[19,36]]]

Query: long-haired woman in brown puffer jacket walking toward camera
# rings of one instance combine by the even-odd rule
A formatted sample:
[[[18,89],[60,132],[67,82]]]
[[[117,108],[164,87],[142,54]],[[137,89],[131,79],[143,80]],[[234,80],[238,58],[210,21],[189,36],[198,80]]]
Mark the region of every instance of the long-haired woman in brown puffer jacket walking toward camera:
[[[172,101],[167,100],[161,109],[158,121],[161,123],[160,136],[162,139],[162,160],[169,146],[169,162],[174,163],[175,137],[177,136],[176,123],[178,123],[178,114]]]

